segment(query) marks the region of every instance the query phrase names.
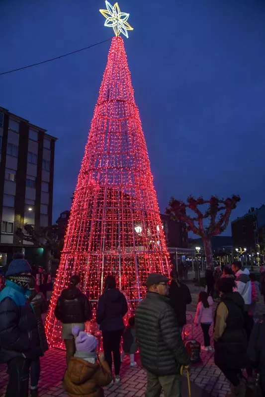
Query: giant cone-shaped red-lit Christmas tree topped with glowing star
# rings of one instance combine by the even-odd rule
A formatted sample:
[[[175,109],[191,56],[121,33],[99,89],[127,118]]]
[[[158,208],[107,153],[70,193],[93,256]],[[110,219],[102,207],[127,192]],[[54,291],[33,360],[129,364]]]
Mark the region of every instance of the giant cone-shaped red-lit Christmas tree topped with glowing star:
[[[61,325],[54,317],[58,296],[72,274],[92,303],[107,274],[116,277],[132,309],[145,296],[150,272],[169,274],[163,226],[146,142],[134,100],[123,33],[132,30],[116,3],[106,1],[106,26],[112,26],[107,66],[94,109],[85,155],[57,271],[46,332],[61,347]]]

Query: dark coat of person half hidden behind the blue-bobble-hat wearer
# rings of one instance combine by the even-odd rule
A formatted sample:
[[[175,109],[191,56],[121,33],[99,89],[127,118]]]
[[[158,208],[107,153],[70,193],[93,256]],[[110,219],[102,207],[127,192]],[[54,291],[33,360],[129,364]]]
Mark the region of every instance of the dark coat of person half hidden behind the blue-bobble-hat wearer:
[[[37,292],[36,290],[30,291],[29,300],[31,306],[33,307],[33,311],[35,313],[35,317],[38,325],[38,332],[40,337],[40,344],[42,352],[45,353],[49,349],[44,324],[41,318],[43,313],[46,313],[48,310],[48,304],[46,299],[44,298],[41,292]]]

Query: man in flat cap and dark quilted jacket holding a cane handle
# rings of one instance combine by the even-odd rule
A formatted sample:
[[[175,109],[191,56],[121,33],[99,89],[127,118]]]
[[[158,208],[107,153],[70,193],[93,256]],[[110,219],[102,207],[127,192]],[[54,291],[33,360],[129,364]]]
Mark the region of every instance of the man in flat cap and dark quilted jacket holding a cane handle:
[[[147,371],[146,397],[181,397],[181,365],[189,358],[181,339],[177,319],[170,305],[169,278],[151,273],[147,296],[136,308],[135,325],[141,362]]]

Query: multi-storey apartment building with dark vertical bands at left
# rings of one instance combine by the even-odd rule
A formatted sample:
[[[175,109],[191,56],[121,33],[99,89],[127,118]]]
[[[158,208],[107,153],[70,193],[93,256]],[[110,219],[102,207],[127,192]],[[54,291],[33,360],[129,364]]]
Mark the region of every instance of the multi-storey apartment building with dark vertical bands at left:
[[[0,107],[0,265],[31,242],[24,226],[52,224],[56,138]],[[34,247],[32,247],[34,248]]]

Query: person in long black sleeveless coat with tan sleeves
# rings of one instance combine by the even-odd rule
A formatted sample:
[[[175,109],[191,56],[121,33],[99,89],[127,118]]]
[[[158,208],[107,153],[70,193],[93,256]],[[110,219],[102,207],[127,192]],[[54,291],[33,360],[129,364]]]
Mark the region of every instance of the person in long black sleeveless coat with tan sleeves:
[[[247,333],[244,328],[244,299],[233,292],[235,280],[221,277],[218,291],[221,301],[214,319],[214,362],[232,384],[232,396],[245,396],[246,384],[242,368],[246,368]]]

